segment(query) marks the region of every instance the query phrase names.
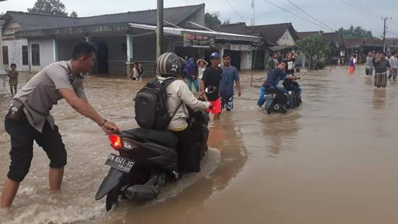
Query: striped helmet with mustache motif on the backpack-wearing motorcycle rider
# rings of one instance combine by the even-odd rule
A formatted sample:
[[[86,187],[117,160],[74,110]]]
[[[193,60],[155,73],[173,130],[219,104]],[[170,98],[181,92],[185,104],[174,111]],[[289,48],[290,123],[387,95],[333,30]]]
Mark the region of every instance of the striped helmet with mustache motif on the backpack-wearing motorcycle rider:
[[[156,73],[164,76],[177,77],[181,74],[181,71],[181,58],[175,53],[168,52],[160,55],[156,63]]]

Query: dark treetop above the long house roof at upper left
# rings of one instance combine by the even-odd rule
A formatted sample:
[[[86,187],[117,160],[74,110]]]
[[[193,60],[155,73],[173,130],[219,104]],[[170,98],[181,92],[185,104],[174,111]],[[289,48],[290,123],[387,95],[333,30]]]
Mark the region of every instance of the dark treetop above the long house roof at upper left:
[[[31,13],[68,16],[65,5],[60,0],[37,0],[33,8],[28,8],[27,11]],[[77,13],[73,11],[70,16],[77,17]]]

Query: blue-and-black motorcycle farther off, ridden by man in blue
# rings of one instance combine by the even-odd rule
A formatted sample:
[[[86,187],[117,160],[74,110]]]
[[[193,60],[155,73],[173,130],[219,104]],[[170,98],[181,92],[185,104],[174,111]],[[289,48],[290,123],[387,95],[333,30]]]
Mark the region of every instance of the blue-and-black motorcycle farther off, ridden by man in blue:
[[[290,108],[300,106],[302,103],[301,88],[297,79],[285,79],[283,89],[272,85],[265,86],[265,109],[268,114],[271,112],[286,113]]]

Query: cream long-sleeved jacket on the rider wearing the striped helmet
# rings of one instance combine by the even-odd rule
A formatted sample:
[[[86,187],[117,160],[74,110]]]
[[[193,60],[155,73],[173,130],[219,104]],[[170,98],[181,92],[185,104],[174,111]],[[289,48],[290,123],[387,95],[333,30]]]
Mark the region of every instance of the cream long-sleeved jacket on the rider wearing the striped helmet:
[[[158,79],[161,82],[166,80],[166,78],[162,77]],[[169,126],[167,127],[168,130],[179,132],[188,127],[187,118],[189,117],[189,113],[186,105],[194,110],[205,110],[206,108],[209,108],[211,106],[209,102],[203,102],[198,100],[193,95],[191,90],[189,90],[187,84],[185,84],[185,82],[182,80],[176,80],[170,83],[166,88],[166,92],[167,109],[169,115],[172,116],[173,113],[177,110]],[[179,106],[181,101],[183,103],[181,104],[181,106]]]

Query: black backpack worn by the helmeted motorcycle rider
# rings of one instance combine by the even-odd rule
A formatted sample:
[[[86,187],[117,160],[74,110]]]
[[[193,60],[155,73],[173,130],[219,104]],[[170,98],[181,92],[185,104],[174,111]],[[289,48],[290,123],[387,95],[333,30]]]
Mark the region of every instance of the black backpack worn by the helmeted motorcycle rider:
[[[160,83],[159,79],[152,79],[137,93],[135,97],[135,120],[141,128],[164,130],[176,115],[178,108],[172,116],[167,109],[166,87],[176,81],[168,78]]]

